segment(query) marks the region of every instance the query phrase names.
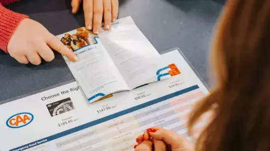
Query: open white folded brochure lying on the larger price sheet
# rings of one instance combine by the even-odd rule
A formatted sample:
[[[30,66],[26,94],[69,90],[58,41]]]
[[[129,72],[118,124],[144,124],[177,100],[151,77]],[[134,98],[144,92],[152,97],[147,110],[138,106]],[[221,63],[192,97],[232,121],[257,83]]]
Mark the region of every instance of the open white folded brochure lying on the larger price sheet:
[[[117,20],[98,36],[80,28],[57,37],[78,55],[78,62],[64,59],[90,103],[180,74],[174,64],[162,63],[131,17]]]

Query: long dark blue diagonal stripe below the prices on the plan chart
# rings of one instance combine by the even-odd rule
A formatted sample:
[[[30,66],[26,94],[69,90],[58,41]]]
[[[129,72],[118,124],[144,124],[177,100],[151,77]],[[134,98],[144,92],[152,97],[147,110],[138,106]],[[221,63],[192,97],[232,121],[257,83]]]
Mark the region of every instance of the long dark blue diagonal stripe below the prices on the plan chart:
[[[196,90],[196,89],[199,89],[199,86],[198,86],[198,85],[194,85],[194,86],[192,86],[192,87],[189,87],[189,88],[186,88],[186,89],[183,89],[183,90],[180,90],[180,91],[176,91],[176,92],[174,92],[174,93],[171,93],[171,94],[168,94],[168,95],[159,97],[159,98],[154,99],[154,100],[151,100],[151,101],[149,101],[149,102],[145,102],[145,103],[142,103],[142,104],[140,104],[140,105],[134,106],[134,107],[132,107],[132,108],[129,108],[129,109],[126,109],[126,110],[123,110],[123,111],[114,113],[114,114],[109,115],[109,116],[106,116],[106,117],[104,117],[104,118],[101,118],[101,119],[98,119],[98,120],[95,120],[95,121],[90,121],[90,122],[85,123],[85,124],[83,124],[83,125],[80,125],[80,126],[71,128],[71,129],[69,129],[69,130],[66,130],[66,131],[63,131],[63,132],[60,132],[60,133],[57,133],[57,134],[54,134],[54,135],[51,135],[51,136],[48,136],[48,137],[45,137],[45,138],[40,139],[40,140],[38,140],[38,141],[35,141],[35,142],[32,142],[32,143],[29,143],[29,144],[20,146],[20,147],[18,147],[18,148],[15,148],[15,149],[12,149],[12,150],[9,150],[9,151],[18,150],[18,149],[20,149],[20,148],[27,147],[27,146],[28,146],[29,148],[33,148],[33,147],[35,147],[35,146],[44,144],[44,143],[46,143],[46,142],[49,142],[49,141],[58,139],[58,138],[63,137],[63,136],[67,136],[67,135],[69,135],[69,134],[78,132],[78,131],[80,131],[80,130],[89,128],[89,127],[91,127],[91,126],[100,124],[100,123],[102,123],[102,122],[105,122],[105,121],[109,121],[109,120],[118,118],[118,117],[120,117],[120,116],[129,114],[129,113],[132,113],[132,112],[134,112],[134,111],[143,109],[143,108],[145,108],[145,107],[151,106],[151,105],[153,105],[153,104],[157,104],[157,103],[159,103],[159,102],[168,100],[168,99],[173,98],[173,97],[175,97],[175,96],[178,96],[178,95],[181,95],[181,94],[184,94],[184,93],[187,93],[187,92],[189,92],[189,91]],[[37,143],[37,142],[40,142],[40,141],[43,141],[43,140],[46,140],[46,141],[44,141],[43,143],[39,143],[39,144]],[[32,145],[32,144],[35,144],[35,143],[37,143],[37,145],[31,146],[31,147],[29,146],[29,145]],[[28,149],[29,149],[29,148],[28,148]],[[24,151],[24,150],[27,150],[27,149],[22,149],[22,150],[19,150],[19,151]]]

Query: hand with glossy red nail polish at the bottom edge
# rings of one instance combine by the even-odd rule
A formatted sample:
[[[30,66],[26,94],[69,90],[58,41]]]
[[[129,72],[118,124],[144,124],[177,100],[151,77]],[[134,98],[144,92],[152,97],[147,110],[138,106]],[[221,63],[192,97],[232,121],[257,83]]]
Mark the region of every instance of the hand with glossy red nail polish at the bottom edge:
[[[162,127],[148,128],[136,138],[135,151],[193,151],[194,146],[177,132]],[[168,150],[166,150],[168,149]]]

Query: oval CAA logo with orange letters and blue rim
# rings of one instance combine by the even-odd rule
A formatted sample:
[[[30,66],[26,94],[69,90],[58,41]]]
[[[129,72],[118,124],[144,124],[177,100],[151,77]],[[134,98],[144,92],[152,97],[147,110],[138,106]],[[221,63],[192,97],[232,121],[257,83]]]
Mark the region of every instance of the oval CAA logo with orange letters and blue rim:
[[[7,119],[6,126],[10,128],[20,128],[30,124],[33,120],[34,116],[31,113],[18,113]]]

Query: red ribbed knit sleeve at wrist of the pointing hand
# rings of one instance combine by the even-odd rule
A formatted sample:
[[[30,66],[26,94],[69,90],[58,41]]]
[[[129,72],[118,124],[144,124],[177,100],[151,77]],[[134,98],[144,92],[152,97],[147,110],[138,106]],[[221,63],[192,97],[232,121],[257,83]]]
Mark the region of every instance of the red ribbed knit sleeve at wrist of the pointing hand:
[[[18,0],[0,0],[2,4],[8,4]],[[15,13],[6,9],[0,3],[0,49],[7,52],[8,41],[16,30],[18,24],[24,19],[29,18],[26,15]]]

